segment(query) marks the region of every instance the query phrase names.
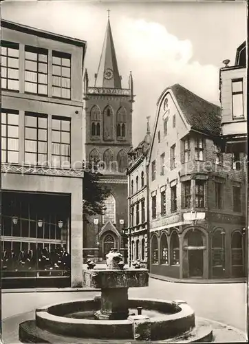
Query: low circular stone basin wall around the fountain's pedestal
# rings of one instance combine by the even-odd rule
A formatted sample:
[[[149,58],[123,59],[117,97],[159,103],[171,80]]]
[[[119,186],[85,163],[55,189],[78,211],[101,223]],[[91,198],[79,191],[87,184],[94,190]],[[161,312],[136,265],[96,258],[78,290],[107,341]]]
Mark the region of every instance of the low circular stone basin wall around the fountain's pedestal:
[[[100,309],[100,297],[69,303],[48,305],[36,310],[36,326],[54,334],[78,338],[132,339],[133,321],[91,320],[65,317],[72,312]],[[172,338],[195,327],[195,314],[184,301],[165,301],[160,299],[129,299],[129,308],[142,306],[145,310],[158,310],[160,314],[150,319],[151,341]],[[143,313],[142,313],[143,314]]]

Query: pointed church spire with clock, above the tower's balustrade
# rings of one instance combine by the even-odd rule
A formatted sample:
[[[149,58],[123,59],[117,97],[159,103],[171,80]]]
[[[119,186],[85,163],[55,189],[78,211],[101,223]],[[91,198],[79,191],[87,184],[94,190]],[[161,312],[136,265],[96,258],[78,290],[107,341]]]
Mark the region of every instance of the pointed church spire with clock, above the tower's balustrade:
[[[121,77],[118,72],[118,63],[111,34],[109,12],[110,10],[108,10],[107,30],[105,32],[105,40],[100,56],[100,63],[98,65],[98,73],[96,74],[95,86],[121,88]]]

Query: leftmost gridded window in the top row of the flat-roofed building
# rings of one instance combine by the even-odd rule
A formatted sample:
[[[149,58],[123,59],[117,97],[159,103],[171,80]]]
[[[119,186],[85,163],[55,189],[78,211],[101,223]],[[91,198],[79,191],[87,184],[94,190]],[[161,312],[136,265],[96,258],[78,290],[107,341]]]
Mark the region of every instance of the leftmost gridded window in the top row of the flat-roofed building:
[[[1,41],[1,89],[19,91],[19,44]]]

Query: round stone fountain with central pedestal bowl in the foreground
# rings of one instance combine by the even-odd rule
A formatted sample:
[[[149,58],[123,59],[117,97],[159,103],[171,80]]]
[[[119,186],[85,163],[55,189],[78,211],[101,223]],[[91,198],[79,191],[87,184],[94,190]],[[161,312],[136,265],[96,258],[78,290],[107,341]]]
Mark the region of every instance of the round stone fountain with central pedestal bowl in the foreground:
[[[101,290],[93,299],[36,309],[36,319],[19,325],[22,343],[193,343],[213,341],[208,321],[195,319],[185,301],[129,299],[128,288],[147,287],[149,271],[124,268],[122,255],[107,254],[107,268],[88,261],[85,286]]]

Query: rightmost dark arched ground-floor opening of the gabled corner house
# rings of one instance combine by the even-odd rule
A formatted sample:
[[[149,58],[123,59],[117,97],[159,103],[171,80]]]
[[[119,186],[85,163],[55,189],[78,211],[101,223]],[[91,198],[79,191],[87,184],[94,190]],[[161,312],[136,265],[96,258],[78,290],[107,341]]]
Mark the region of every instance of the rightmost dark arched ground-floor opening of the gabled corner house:
[[[243,277],[243,235],[236,231],[232,234],[232,277]]]

